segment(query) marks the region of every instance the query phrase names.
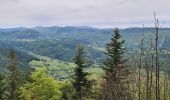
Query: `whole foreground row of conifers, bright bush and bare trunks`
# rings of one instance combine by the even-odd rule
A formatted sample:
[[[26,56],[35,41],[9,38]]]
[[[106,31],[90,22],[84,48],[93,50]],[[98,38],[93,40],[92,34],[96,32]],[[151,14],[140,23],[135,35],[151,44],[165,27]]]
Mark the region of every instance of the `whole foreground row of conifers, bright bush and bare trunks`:
[[[169,69],[159,55],[159,20],[155,15],[155,34],[145,47],[145,29],[137,51],[125,48],[118,28],[113,29],[106,44],[103,73],[92,79],[84,48],[77,46],[74,74],[59,81],[46,67],[22,74],[17,69],[17,56],[10,53],[8,74],[0,75],[1,100],[169,100]],[[22,76],[22,77],[21,77]]]

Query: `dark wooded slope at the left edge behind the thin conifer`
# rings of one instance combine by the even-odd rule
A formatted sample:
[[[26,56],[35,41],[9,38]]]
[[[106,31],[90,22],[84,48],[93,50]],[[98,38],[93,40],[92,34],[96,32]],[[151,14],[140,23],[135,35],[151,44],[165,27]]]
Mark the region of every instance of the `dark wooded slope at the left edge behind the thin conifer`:
[[[1,62],[0,72],[2,74],[8,73],[11,50],[14,50],[14,48],[7,45],[5,42],[0,41],[0,62]],[[28,67],[28,62],[36,58],[22,51],[18,51],[16,49],[15,49],[15,53],[16,53],[16,59],[17,59],[17,65],[18,65],[17,68],[22,71],[27,71],[28,69],[30,69]]]

